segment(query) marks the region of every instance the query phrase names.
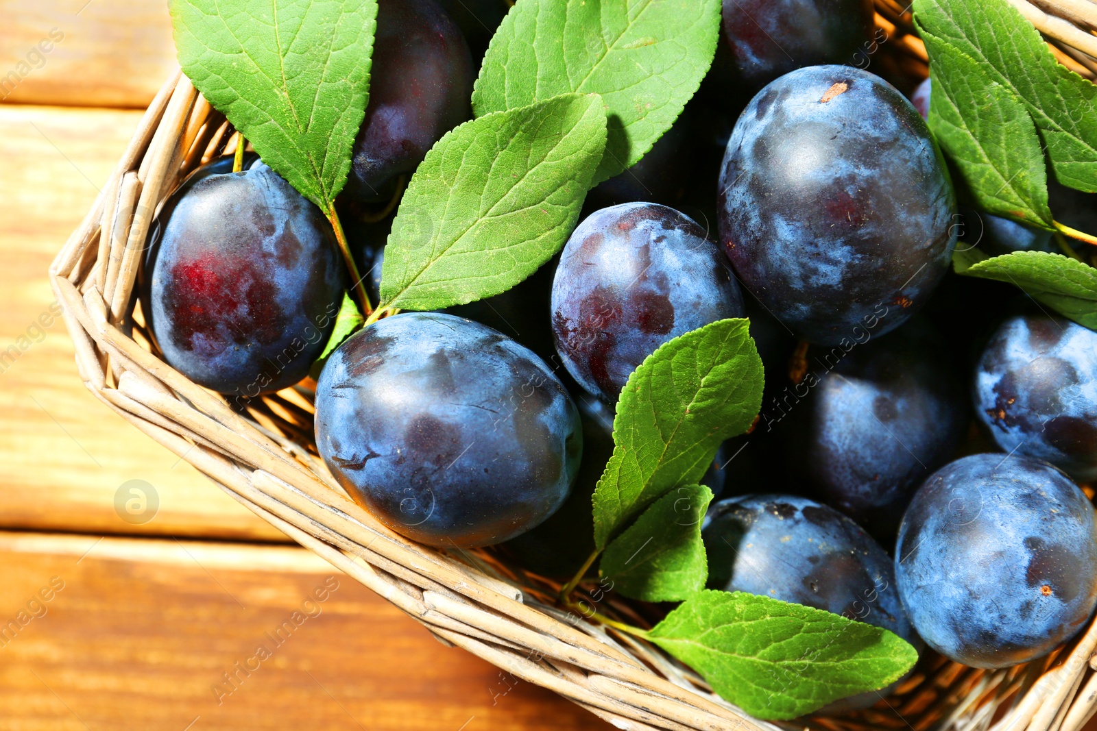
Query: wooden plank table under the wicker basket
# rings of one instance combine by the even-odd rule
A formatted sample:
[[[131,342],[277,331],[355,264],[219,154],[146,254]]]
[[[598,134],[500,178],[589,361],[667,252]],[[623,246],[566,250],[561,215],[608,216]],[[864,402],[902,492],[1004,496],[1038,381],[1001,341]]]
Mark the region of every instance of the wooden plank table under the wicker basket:
[[[173,65],[165,3],[0,18],[0,98],[54,105],[0,104],[0,731],[609,728],[438,643],[83,390],[46,269]],[[135,479],[143,524],[115,509]]]

